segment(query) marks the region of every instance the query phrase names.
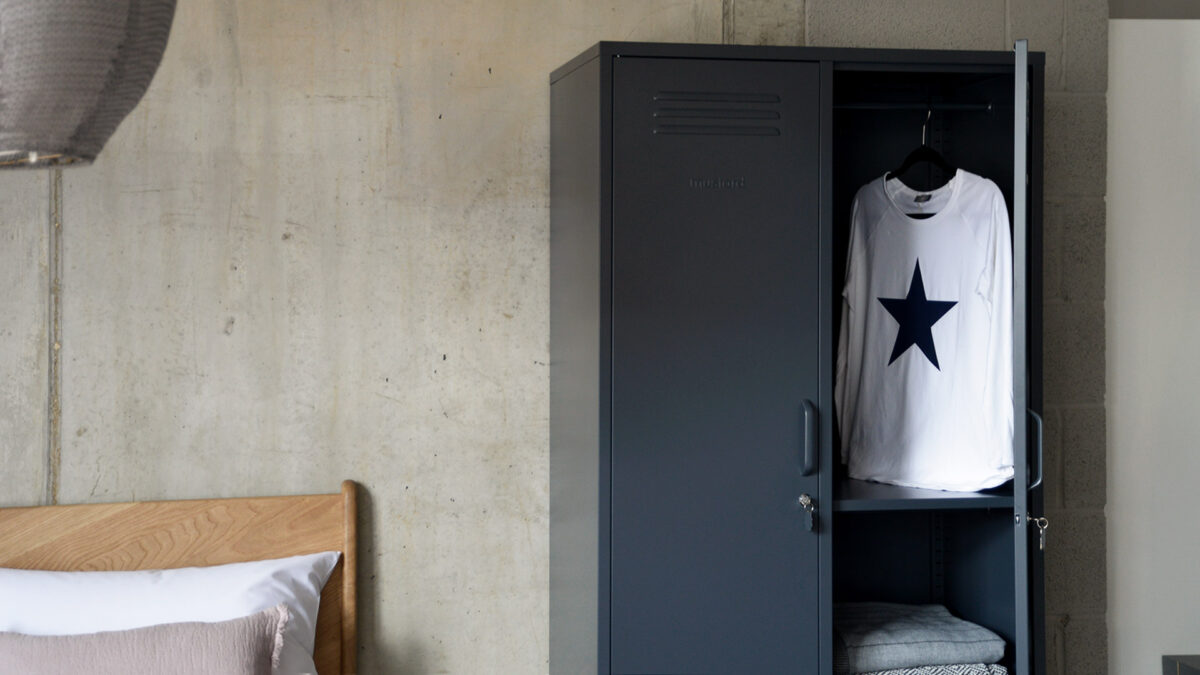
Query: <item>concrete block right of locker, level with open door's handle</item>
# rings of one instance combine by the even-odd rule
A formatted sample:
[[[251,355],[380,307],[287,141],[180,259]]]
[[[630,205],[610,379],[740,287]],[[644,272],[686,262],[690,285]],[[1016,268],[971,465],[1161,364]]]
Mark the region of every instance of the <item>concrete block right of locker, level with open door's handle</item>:
[[[1066,408],[1063,417],[1063,503],[1103,509],[1106,494],[1105,413],[1103,406]]]

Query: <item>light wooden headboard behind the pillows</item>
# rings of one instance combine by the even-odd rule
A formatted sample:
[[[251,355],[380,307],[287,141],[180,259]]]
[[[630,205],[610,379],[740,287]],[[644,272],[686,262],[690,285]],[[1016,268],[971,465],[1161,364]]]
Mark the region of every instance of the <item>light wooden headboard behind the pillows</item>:
[[[0,508],[0,567],[167,569],[342,551],[320,593],[313,659],[355,670],[356,500],[341,494]]]

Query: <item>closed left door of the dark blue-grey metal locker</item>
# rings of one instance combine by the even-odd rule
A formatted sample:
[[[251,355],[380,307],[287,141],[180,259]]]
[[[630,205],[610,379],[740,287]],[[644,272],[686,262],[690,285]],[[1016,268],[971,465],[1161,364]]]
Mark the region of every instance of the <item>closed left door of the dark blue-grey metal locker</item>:
[[[613,673],[817,673],[818,77],[614,60]]]

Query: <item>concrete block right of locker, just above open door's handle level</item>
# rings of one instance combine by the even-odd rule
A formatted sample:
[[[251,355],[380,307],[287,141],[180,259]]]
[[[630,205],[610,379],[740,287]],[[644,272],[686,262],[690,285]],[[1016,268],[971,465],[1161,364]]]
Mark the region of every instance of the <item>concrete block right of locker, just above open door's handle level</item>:
[[[1046,405],[1103,405],[1103,303],[1046,304],[1043,318]]]

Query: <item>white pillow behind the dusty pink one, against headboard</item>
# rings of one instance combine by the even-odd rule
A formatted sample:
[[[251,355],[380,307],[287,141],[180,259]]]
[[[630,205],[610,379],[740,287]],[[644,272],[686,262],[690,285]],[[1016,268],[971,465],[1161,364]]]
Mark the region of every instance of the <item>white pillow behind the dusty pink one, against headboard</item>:
[[[288,605],[277,674],[316,673],[320,590],[341,554],[144,572],[0,568],[0,631],[78,635],[181,621],[227,621]]]

